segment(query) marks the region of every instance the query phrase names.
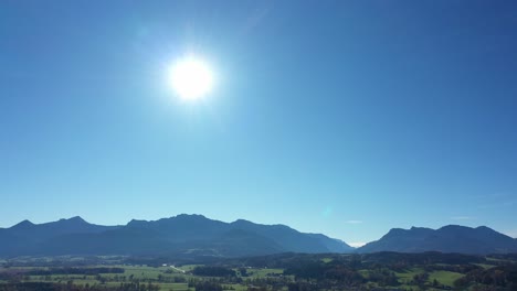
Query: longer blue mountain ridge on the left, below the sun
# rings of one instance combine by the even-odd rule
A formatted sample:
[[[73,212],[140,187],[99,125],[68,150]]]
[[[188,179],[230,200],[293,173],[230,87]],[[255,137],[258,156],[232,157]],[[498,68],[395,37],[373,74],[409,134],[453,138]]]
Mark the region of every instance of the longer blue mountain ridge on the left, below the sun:
[[[202,215],[101,226],[81,217],[35,225],[29,220],[0,228],[0,256],[175,255],[256,256],[286,251],[350,252],[354,248],[324,235],[285,225],[247,220],[223,223]]]

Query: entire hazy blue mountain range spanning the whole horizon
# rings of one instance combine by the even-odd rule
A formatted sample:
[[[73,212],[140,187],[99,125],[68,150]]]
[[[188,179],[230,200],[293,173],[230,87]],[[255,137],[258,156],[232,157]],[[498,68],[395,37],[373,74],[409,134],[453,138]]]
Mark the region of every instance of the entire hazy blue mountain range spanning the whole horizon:
[[[59,255],[129,255],[242,257],[278,252],[517,252],[517,239],[486,226],[449,225],[440,229],[393,228],[379,240],[352,248],[321,234],[304,234],[285,225],[244,219],[223,223],[202,215],[130,220],[102,226],[76,216],[45,224],[23,220],[0,228],[0,257]]]

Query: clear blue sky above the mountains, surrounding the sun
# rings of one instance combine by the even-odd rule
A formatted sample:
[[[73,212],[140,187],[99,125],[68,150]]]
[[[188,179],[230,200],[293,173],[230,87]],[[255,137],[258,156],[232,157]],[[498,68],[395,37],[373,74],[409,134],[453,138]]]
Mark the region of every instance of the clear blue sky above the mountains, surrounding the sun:
[[[517,236],[515,1],[0,1],[0,227]],[[179,100],[167,68],[214,72]]]

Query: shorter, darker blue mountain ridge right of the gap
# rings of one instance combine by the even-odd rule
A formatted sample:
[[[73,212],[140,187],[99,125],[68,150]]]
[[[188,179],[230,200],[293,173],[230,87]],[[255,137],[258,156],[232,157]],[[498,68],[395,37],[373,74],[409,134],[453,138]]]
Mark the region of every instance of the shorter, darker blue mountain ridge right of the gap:
[[[436,230],[423,227],[393,228],[381,239],[357,251],[505,254],[517,252],[517,241],[486,226],[472,228],[447,225]]]

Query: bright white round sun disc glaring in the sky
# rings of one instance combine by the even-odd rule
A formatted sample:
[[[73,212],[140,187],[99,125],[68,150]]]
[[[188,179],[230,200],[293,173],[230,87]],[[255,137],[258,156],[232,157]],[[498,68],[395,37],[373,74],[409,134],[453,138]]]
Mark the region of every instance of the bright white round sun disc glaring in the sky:
[[[171,67],[169,80],[181,99],[197,100],[212,89],[213,74],[205,62],[189,56]]]

